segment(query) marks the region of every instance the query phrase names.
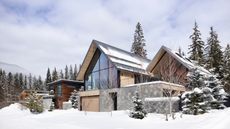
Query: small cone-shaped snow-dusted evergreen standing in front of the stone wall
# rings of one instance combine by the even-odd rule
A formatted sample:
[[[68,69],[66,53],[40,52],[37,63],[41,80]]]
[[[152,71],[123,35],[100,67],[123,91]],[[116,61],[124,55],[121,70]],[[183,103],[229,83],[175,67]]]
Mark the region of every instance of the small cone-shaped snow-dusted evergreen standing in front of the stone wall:
[[[143,119],[146,117],[147,112],[144,110],[143,102],[141,101],[139,94],[136,92],[136,95],[133,96],[134,108],[130,111],[129,116],[135,119]]]

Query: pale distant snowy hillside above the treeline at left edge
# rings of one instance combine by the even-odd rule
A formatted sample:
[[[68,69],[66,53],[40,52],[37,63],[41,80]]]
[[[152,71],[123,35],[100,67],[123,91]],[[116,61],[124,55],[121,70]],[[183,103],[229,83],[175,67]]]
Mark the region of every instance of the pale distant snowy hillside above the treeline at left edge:
[[[8,64],[0,61],[0,69],[6,72],[29,74],[29,71],[15,64]]]

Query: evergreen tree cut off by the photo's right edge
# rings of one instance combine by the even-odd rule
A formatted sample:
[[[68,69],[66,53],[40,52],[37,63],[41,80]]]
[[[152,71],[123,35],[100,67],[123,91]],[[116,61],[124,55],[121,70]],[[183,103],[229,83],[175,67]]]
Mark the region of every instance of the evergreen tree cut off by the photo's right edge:
[[[227,47],[224,51],[224,89],[230,93],[230,46],[227,44]]]

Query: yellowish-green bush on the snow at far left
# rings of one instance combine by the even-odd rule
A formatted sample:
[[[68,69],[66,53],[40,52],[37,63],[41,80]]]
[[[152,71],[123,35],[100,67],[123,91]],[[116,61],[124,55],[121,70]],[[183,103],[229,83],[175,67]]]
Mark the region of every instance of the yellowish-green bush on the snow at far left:
[[[26,107],[29,108],[32,113],[42,113],[42,96],[37,95],[36,91],[31,92],[26,98]]]

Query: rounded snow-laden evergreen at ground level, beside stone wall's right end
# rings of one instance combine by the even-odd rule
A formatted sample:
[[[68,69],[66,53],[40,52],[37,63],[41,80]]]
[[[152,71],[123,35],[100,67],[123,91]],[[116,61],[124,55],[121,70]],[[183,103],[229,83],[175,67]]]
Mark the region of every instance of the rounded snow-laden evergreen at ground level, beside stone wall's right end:
[[[195,88],[193,91],[185,92],[182,95],[182,112],[184,114],[203,114],[207,110],[205,96],[201,89]]]

